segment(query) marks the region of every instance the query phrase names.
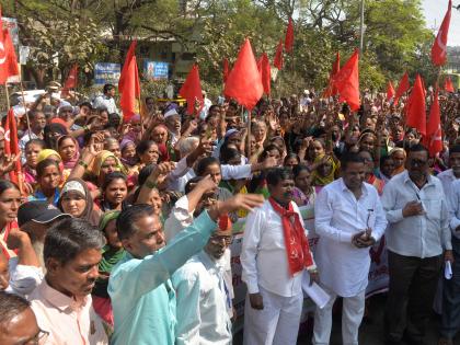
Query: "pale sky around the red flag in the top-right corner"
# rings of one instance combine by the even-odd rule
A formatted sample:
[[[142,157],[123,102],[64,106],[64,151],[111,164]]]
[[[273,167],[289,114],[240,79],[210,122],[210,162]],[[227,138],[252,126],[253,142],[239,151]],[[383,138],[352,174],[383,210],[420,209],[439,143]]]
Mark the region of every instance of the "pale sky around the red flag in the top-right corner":
[[[447,11],[448,0],[422,0],[423,13],[426,20],[426,26],[430,30],[436,28],[437,33],[442,23],[444,15]],[[460,4],[460,0],[452,0],[452,5]],[[452,8],[452,16],[450,19],[450,28],[447,44],[449,46],[460,46],[460,11]]]

